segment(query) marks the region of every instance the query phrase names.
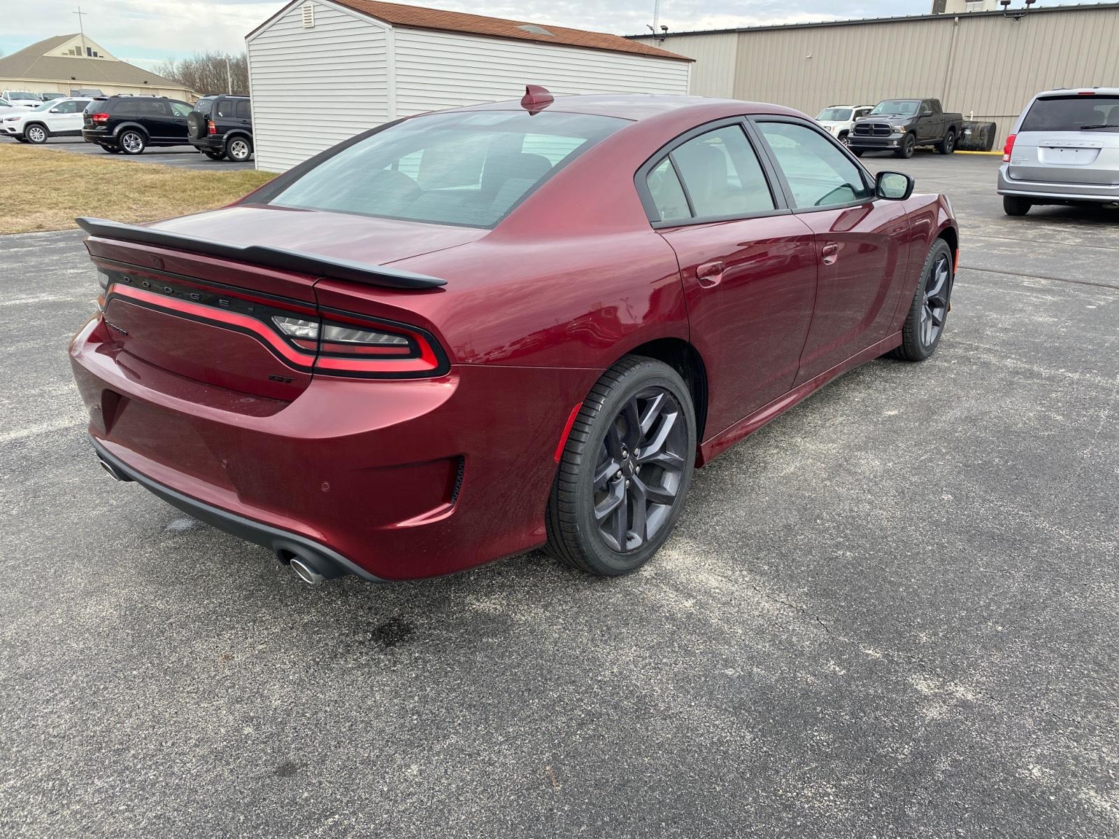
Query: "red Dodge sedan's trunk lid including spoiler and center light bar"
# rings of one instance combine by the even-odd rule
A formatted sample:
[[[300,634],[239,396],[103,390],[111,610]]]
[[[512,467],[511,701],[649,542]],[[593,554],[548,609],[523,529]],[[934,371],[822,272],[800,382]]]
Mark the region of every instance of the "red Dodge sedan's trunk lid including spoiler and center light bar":
[[[126,355],[188,379],[288,402],[314,375],[318,282],[376,285],[405,298],[438,290],[441,280],[386,263],[486,233],[264,208],[149,227],[79,223],[92,234],[86,247],[107,286],[106,327]],[[255,244],[262,242],[284,247]],[[328,244],[347,256],[327,256]]]

